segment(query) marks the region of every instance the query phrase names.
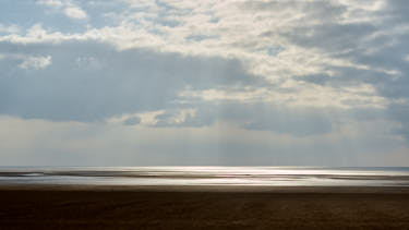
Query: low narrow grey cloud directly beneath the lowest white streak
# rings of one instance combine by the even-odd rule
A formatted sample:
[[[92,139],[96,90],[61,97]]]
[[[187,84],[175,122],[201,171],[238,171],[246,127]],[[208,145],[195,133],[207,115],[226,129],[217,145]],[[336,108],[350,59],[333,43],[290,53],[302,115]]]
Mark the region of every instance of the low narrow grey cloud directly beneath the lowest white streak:
[[[387,117],[387,112],[382,108],[290,108],[234,101],[202,101],[194,106],[197,109],[195,116],[188,114],[183,122],[173,122],[171,118],[178,116],[179,111],[172,110],[158,114],[155,125],[208,126],[216,122],[228,122],[246,130],[272,131],[302,137],[330,133],[351,121],[376,121]]]

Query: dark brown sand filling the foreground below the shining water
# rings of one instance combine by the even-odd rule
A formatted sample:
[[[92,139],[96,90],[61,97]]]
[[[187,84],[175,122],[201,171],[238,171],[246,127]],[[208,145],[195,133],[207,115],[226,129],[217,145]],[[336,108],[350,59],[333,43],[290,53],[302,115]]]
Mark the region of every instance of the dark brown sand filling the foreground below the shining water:
[[[405,187],[0,186],[0,229],[409,229]]]

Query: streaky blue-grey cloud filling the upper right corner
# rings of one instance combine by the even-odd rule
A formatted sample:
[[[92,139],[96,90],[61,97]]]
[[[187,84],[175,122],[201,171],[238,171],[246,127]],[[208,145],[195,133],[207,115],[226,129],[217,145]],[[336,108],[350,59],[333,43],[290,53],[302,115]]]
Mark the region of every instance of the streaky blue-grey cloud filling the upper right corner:
[[[409,140],[405,132],[409,126],[407,2],[377,1],[370,8],[356,1],[342,1],[310,8],[314,3],[317,2],[251,2],[245,9],[275,11],[287,9],[289,4],[290,9],[297,8],[294,4],[304,9],[306,13],[301,19],[305,23],[285,32],[268,31],[263,34],[270,38],[279,34],[290,44],[318,50],[329,60],[318,63],[320,70],[315,73],[305,72],[293,78],[341,90],[352,85],[369,85],[374,89],[371,98],[377,97],[376,104],[383,104],[389,119],[400,125],[393,133]],[[353,107],[357,99],[345,101]]]

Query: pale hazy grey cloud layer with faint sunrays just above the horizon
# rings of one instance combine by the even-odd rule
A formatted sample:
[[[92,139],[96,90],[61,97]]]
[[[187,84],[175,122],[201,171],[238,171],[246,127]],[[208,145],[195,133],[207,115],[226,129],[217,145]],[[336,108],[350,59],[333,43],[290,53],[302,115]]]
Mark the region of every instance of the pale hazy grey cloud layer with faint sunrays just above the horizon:
[[[158,129],[0,117],[0,126],[2,164],[14,166],[405,166],[409,159],[380,121],[309,138],[222,124]]]

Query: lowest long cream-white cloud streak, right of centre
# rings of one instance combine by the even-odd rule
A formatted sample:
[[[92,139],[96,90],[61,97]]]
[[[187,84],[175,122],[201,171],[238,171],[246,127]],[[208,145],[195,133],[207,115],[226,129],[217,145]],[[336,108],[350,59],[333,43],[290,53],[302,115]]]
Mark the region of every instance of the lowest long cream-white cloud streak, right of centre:
[[[291,89],[293,82],[281,85],[281,90],[272,90],[268,87],[226,88],[205,90],[182,90],[179,96],[182,101],[241,101],[242,104],[266,102],[287,107],[311,108],[385,108],[387,99],[378,96],[372,85],[361,84],[342,88],[325,87],[314,84],[305,84],[293,94],[282,93]],[[296,83],[297,84],[297,83]]]

